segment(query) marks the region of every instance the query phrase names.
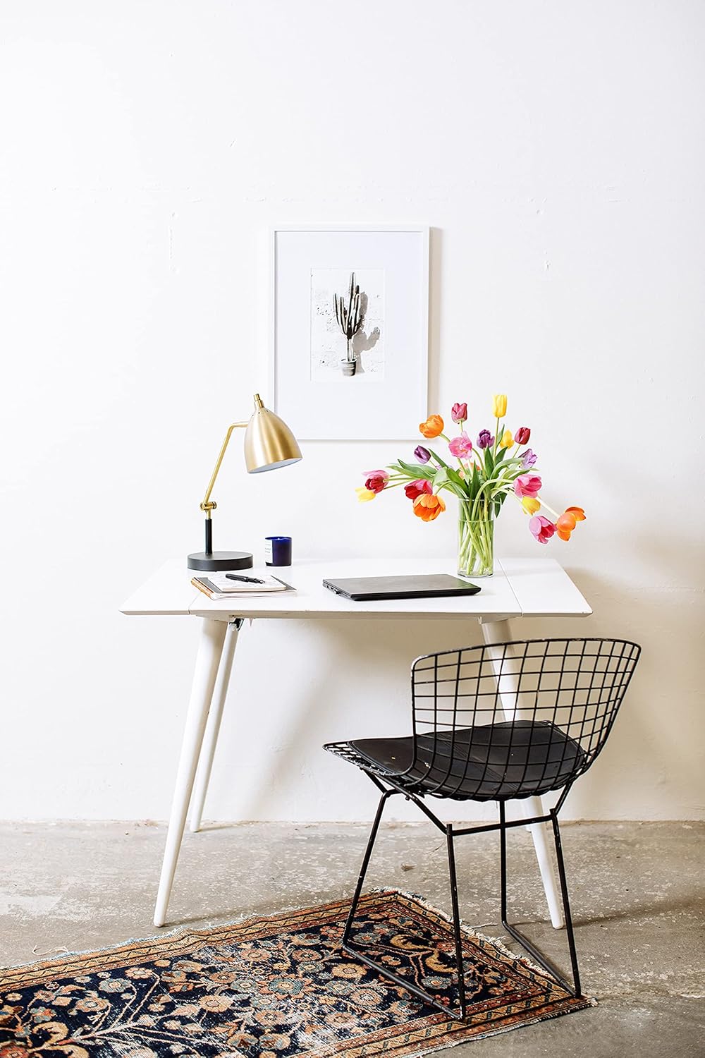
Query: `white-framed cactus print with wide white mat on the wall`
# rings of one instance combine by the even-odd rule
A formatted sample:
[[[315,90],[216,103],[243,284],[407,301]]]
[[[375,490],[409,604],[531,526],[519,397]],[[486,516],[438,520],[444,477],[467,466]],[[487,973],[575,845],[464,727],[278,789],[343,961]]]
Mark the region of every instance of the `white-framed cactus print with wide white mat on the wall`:
[[[429,229],[275,227],[271,255],[277,415],[300,440],[415,438],[428,414]]]

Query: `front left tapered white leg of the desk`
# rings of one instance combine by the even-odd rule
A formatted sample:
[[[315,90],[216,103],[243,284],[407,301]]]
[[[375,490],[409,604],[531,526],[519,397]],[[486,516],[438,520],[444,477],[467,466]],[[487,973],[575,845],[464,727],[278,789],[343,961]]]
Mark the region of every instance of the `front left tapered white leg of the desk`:
[[[181,756],[179,758],[179,769],[177,771],[177,784],[173,790],[169,829],[167,832],[166,849],[162,863],[162,876],[160,878],[159,893],[156,894],[156,907],[154,908],[155,926],[164,926],[166,922],[166,912],[177,870],[181,839],[184,836],[188,802],[191,798],[193,777],[196,776],[196,768],[199,763],[203,732],[206,726],[208,709],[210,708],[214,687],[216,686],[216,676],[218,675],[218,665],[223,652],[226,630],[227,623],[225,621],[204,619],[201,623],[199,652],[196,657],[193,682],[191,683],[191,697],[188,703],[188,712],[186,713],[186,725],[184,727],[184,737],[181,744]]]

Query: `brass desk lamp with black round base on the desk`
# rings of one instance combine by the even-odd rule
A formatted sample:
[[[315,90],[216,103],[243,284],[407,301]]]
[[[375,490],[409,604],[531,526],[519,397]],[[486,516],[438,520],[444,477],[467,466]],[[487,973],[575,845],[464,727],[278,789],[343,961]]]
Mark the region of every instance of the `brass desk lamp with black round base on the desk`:
[[[201,504],[205,511],[205,550],[188,557],[189,569],[249,569],[253,557],[248,551],[214,551],[211,511],[217,505],[210,498],[220,464],[225,455],[230,435],[234,430],[245,430],[245,466],[248,474],[260,474],[265,470],[277,470],[278,467],[289,467],[301,458],[298,442],[285,422],[270,412],[259,394],[255,394],[255,412],[249,422],[234,422],[228,426],[225,440],[220,450],[216,469],[214,470],[206,494]]]

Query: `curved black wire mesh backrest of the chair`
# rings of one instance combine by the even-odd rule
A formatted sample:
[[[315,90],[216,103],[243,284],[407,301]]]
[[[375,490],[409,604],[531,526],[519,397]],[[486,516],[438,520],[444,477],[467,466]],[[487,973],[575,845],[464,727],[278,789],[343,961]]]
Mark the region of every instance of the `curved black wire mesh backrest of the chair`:
[[[531,639],[416,658],[413,763],[439,797],[531,797],[601,750],[638,660],[620,639]],[[486,795],[486,796],[485,796]]]

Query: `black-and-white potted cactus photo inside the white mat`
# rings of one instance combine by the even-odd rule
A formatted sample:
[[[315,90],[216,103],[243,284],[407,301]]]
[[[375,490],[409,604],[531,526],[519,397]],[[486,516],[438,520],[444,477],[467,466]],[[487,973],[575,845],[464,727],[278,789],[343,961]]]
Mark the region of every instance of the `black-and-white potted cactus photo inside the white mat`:
[[[311,379],[384,379],[384,269],[311,270]]]

